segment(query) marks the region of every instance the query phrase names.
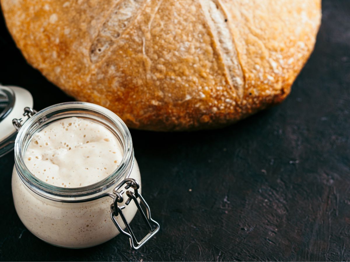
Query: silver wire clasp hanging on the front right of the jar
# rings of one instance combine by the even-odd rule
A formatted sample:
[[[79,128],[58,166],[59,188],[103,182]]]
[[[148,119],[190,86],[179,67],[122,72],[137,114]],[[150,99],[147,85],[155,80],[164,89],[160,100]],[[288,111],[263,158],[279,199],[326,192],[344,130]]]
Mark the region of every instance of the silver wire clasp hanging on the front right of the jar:
[[[127,199],[127,201],[125,201],[125,205],[130,204],[130,202],[132,200],[134,201],[139,213],[141,214],[142,218],[144,219],[144,222],[149,230],[149,233],[141,241],[137,241],[134,233],[131,230],[131,227],[130,227],[128,221],[126,220],[126,218],[124,216],[122,209],[125,209],[126,206],[125,205],[118,205],[118,203],[122,203],[124,200],[123,199],[124,190],[120,190],[119,192],[117,190],[119,190],[124,184],[126,184],[125,189],[129,189],[129,188],[134,189],[134,192],[132,192],[130,190],[126,191],[126,195],[129,198]],[[113,190],[114,202],[111,204],[111,219],[113,220],[114,224],[118,228],[119,232],[121,234],[126,235],[129,238],[130,246],[134,250],[137,250],[142,245],[144,245],[149,239],[151,239],[159,231],[159,228],[160,228],[159,224],[151,218],[151,211],[149,210],[149,206],[146,203],[145,199],[138,192],[139,188],[140,188],[140,185],[136,180],[131,179],[131,178],[125,179],[116,188],[114,188],[114,190]],[[141,208],[141,205],[140,205],[138,200],[146,208],[146,214],[145,214],[144,210]],[[119,223],[116,219],[116,217],[118,217],[118,216],[120,216],[120,218],[123,220],[125,227],[126,227],[125,230],[123,230],[121,228],[121,226],[119,225]]]

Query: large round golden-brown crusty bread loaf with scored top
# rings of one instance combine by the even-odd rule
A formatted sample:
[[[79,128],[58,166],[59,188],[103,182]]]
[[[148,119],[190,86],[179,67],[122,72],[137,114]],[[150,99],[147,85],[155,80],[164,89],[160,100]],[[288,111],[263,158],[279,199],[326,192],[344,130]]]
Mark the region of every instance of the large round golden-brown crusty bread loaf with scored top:
[[[288,95],[320,0],[1,0],[28,62],[130,128],[216,128]],[[292,110],[292,109],[291,109]]]

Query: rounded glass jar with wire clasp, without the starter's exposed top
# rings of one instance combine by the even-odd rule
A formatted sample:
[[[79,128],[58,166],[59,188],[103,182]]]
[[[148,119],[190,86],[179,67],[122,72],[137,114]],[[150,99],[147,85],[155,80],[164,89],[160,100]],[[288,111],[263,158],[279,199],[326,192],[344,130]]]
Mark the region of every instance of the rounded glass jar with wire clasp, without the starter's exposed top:
[[[129,237],[133,249],[141,247],[158,232],[159,224],[151,218],[141,196],[140,170],[134,158],[130,132],[117,115],[96,104],[68,102],[29,116],[18,126],[12,192],[18,216],[30,232],[52,245],[68,248],[96,246],[120,232]],[[24,155],[33,134],[67,117],[81,117],[102,124],[120,141],[123,159],[117,170],[104,180],[86,187],[56,187],[37,179],[26,167]],[[128,224],[137,211],[149,230],[141,241],[136,240]]]

